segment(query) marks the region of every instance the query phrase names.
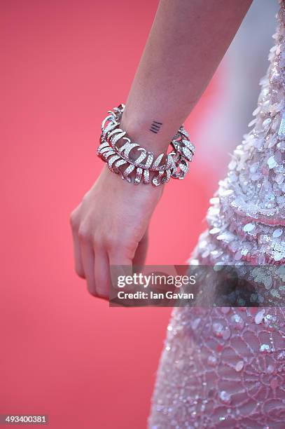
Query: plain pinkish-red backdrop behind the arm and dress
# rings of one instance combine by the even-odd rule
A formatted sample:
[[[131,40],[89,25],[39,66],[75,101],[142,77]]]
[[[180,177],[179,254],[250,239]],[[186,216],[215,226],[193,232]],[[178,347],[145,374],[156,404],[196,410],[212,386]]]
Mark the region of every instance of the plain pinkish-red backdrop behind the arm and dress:
[[[146,427],[170,309],[91,297],[74,273],[69,212],[102,168],[100,123],[126,100],[157,4],[1,1],[1,414]],[[186,122],[194,139],[216,86]],[[206,227],[218,177],[199,144],[153,216],[149,264],[185,263]]]

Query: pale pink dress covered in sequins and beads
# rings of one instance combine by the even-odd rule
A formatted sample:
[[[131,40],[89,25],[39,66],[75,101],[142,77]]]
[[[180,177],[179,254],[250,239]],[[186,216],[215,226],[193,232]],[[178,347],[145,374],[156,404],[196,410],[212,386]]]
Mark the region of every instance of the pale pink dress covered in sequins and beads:
[[[151,429],[285,428],[285,306],[262,306],[264,299],[278,302],[285,288],[284,0],[277,19],[253,129],[232,155],[228,176],[210,201],[209,229],[190,259],[256,265],[250,275],[258,306],[174,308]],[[274,267],[267,278],[260,275],[264,266]]]

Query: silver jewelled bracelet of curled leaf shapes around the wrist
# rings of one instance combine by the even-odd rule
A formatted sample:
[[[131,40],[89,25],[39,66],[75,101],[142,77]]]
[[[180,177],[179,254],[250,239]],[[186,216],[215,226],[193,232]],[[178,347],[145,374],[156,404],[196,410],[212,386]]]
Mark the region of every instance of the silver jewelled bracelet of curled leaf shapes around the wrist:
[[[100,136],[100,144],[97,149],[97,156],[108,163],[108,167],[112,172],[116,172],[127,180],[132,182],[130,174],[135,172],[134,184],[139,184],[143,177],[144,183],[152,183],[154,186],[159,186],[169,182],[170,177],[173,179],[183,179],[188,172],[188,163],[192,161],[195,152],[194,144],[190,142],[188,132],[182,124],[170,145],[172,151],[169,154],[160,154],[154,159],[153,152],[146,151],[138,143],[134,143],[130,138],[125,137],[126,131],[119,128],[125,104],[120,104],[114,107],[113,111],[109,110],[108,115],[102,121],[102,135]],[[124,142],[118,147],[118,140]],[[130,152],[132,151],[132,158]],[[137,158],[134,158],[134,152],[137,151]],[[165,158],[165,163],[160,164],[162,158]],[[119,168],[125,165],[122,171]],[[150,178],[150,172],[158,174]]]

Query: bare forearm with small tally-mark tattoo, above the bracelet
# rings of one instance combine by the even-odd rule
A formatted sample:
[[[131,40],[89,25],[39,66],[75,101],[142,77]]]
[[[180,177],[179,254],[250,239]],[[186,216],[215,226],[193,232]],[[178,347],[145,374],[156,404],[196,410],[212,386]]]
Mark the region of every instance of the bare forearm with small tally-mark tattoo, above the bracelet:
[[[251,0],[160,0],[121,121],[134,141],[155,152],[167,149],[250,4]]]

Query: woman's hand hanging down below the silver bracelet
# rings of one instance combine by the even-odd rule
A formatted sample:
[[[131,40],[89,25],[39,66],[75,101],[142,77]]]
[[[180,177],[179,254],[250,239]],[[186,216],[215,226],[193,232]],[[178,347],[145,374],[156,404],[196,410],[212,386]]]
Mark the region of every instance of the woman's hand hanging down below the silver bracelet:
[[[105,165],[71,213],[75,269],[91,294],[109,297],[110,265],[144,264],[148,223],[162,188],[129,184]]]

